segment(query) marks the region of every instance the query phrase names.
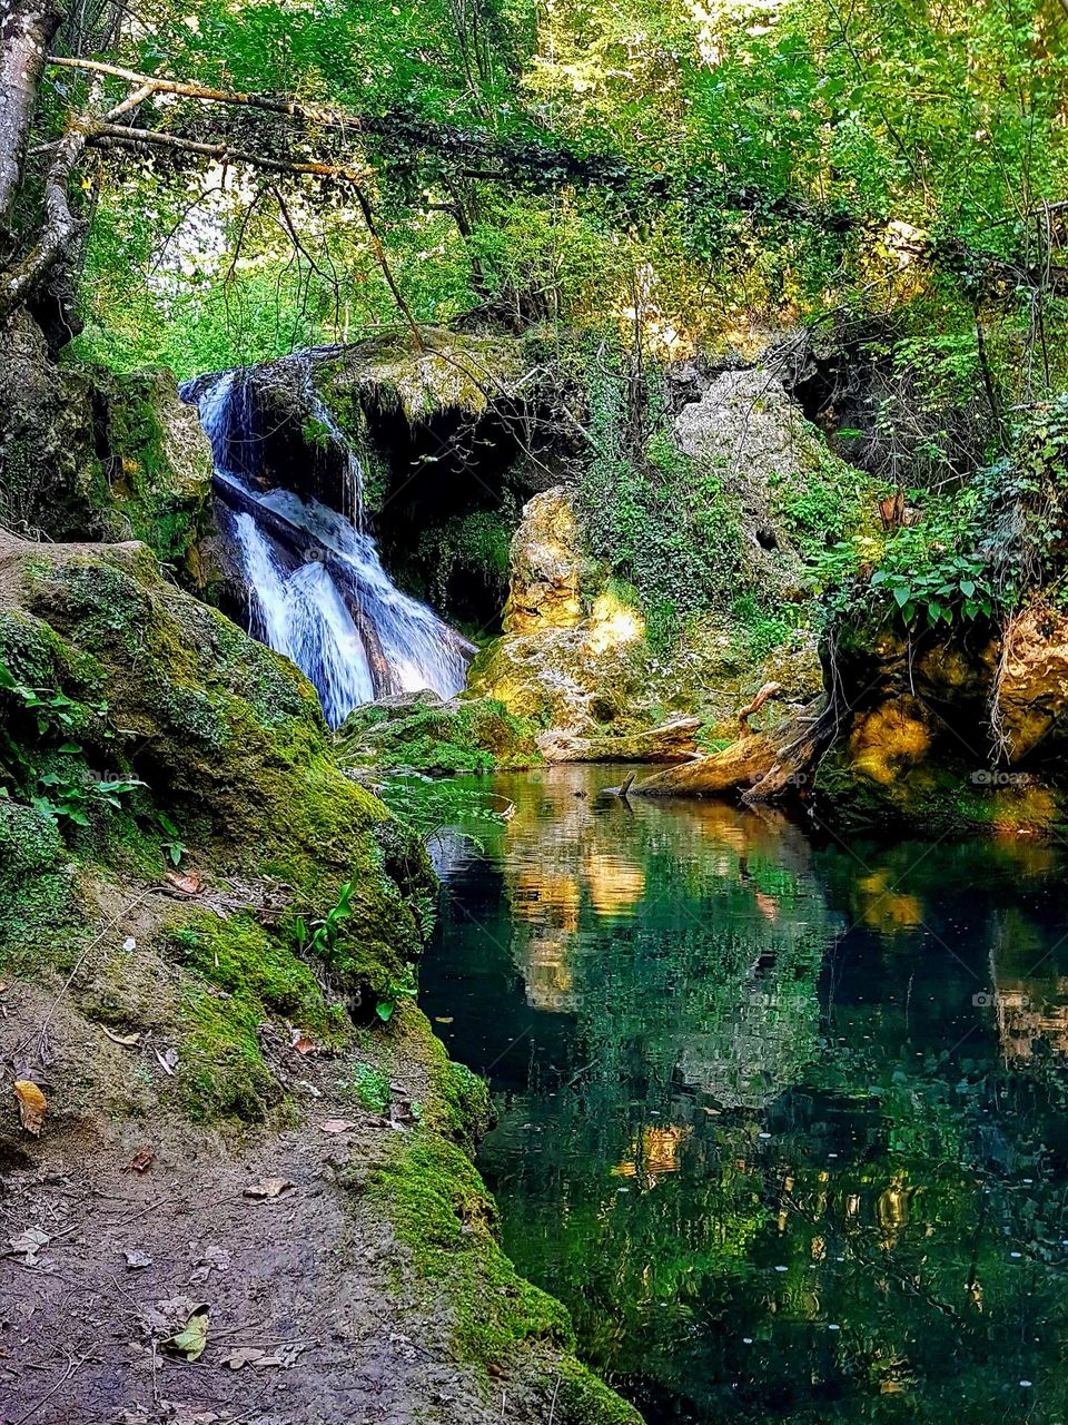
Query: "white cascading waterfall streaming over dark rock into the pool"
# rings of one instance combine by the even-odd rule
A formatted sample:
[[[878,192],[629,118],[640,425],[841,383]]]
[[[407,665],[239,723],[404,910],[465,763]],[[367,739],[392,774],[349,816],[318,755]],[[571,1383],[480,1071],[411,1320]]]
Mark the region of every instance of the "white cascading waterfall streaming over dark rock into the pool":
[[[313,393],[310,369],[306,378],[309,410],[343,462],[356,524],[316,499],[256,486],[258,437],[241,372],[182,388],[212,443],[219,523],[251,594],[251,631],[315,684],[332,727],[357,704],[393,693],[453,697],[474,648],[382,567],[362,529],[359,459]]]

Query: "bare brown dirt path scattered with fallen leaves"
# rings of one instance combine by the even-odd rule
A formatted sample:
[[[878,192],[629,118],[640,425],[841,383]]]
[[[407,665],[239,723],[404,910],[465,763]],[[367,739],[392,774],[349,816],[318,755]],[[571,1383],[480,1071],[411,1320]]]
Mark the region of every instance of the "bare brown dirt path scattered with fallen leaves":
[[[16,995],[0,1050],[24,1023],[17,1007]],[[10,1130],[7,1069],[3,1425],[531,1418],[507,1382],[480,1379],[454,1359],[447,1324],[409,1285],[406,1253],[380,1204],[337,1181],[380,1154],[393,1133],[413,1130],[332,1099],[329,1062],[303,1072],[323,1084],[306,1121],[244,1136],[235,1147],[181,1121],[100,1113],[68,1116],[36,1141]],[[397,1089],[403,1097],[404,1084]],[[352,1127],[323,1130],[337,1119]],[[144,1171],[131,1167],[150,1156]],[[265,1178],[292,1186],[276,1197],[246,1196]],[[27,1230],[48,1238],[37,1253],[24,1245]],[[206,1348],[191,1362],[164,1341],[201,1304],[209,1308]],[[242,1348],[276,1364],[235,1368]]]

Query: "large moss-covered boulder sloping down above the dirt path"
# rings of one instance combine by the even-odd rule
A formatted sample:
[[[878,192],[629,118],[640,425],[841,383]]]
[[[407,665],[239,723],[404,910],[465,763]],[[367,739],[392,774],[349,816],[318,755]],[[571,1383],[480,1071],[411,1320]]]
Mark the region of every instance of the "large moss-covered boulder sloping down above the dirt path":
[[[95,789],[140,784],[130,804],[157,845],[164,811],[214,869],[283,882],[308,919],[350,885],[345,933],[320,950],[352,993],[403,976],[422,939],[409,902],[430,885],[422,849],[397,842],[382,802],[343,774],[303,675],[167,583],[144,546],[0,534],[0,663],[9,681],[48,690],[44,711],[21,708],[24,747],[36,720],[54,732],[9,755],[27,764],[9,767],[14,795],[53,795],[85,838]],[[17,721],[19,694],[9,700]],[[137,848],[135,817],[124,835]]]

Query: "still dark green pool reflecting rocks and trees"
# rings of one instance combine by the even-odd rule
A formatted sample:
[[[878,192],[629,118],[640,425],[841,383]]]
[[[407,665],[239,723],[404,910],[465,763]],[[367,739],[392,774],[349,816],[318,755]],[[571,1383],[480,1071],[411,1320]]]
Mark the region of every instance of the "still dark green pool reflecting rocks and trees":
[[[651,1425],[1068,1421],[1059,845],[487,782],[423,1005],[520,1270]]]

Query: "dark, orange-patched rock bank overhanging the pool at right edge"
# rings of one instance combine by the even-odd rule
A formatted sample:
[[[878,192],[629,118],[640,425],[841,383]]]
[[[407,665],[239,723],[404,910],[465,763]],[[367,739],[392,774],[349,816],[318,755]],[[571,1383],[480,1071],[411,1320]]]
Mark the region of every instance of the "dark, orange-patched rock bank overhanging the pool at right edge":
[[[1064,817],[1068,638],[1042,608],[997,630],[839,640],[842,728],[815,791],[829,817],[926,832],[1042,832]]]

